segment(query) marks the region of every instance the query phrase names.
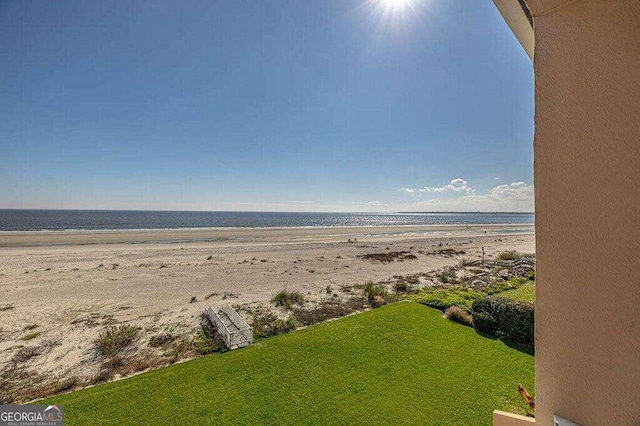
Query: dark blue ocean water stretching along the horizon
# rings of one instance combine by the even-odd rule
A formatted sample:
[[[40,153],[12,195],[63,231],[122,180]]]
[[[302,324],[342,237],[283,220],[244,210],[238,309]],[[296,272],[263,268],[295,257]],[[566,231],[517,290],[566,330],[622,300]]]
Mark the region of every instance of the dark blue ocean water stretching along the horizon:
[[[0,210],[0,231],[532,224],[533,213],[274,213]]]

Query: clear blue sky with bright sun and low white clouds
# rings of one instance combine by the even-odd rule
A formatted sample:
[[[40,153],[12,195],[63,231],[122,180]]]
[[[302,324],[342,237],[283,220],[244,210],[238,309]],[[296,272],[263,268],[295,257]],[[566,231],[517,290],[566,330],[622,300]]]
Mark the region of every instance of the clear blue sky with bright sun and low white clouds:
[[[0,208],[533,211],[490,0],[0,0]]]

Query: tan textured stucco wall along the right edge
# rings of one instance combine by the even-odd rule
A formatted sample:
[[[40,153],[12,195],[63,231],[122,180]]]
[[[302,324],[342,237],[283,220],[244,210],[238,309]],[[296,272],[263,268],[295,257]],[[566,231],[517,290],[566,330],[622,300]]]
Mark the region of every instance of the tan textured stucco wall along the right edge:
[[[535,20],[536,424],[640,424],[640,0]]]

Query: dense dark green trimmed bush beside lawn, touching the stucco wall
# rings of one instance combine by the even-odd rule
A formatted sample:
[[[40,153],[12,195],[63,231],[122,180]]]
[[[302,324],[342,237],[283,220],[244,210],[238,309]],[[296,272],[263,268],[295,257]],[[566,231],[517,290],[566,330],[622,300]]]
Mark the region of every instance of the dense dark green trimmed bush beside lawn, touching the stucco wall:
[[[474,301],[471,310],[476,330],[533,346],[534,306],[532,304],[492,297]]]

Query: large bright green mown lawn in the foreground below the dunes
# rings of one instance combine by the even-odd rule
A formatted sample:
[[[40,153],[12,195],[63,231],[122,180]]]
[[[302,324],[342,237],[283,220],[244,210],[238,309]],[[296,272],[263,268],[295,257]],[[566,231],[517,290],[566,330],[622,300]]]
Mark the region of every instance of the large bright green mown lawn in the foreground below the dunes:
[[[403,302],[39,403],[68,425],[490,425],[533,380],[532,356]]]

